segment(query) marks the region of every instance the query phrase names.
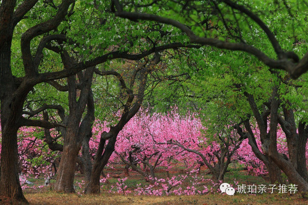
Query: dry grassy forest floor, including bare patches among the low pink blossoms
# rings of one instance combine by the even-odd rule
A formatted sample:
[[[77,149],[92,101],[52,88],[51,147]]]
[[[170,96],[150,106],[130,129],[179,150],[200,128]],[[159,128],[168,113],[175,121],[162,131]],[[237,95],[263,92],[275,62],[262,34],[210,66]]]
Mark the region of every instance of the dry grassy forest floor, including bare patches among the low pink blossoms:
[[[204,174],[206,170],[201,169],[200,174]],[[51,187],[45,187],[43,189],[26,189],[24,190],[25,197],[30,202],[30,204],[308,204],[308,199],[305,199],[301,196],[300,193],[291,194],[289,192],[286,193],[267,193],[262,194],[244,194],[244,193],[235,193],[234,196],[229,196],[226,193],[208,193],[205,195],[194,195],[194,196],[136,196],[128,194],[126,196],[117,194],[117,193],[109,193],[108,191],[112,189],[112,185],[114,186],[116,182],[118,182],[118,178],[124,178],[124,169],[121,167],[117,167],[113,170],[106,170],[106,173],[110,174],[110,178],[108,181],[109,184],[106,184],[102,190],[100,195],[84,195],[82,190],[76,186],[76,192],[79,194],[64,194],[64,193],[56,193],[52,191],[52,182]],[[176,169],[171,171],[169,174],[183,174],[185,170]],[[207,175],[210,177],[210,175]],[[158,178],[166,178],[167,175],[163,171],[158,171]],[[34,182],[36,185],[40,185],[44,183],[43,179],[29,179]],[[83,176],[77,174],[75,177],[77,182],[81,182],[83,180]],[[253,176],[253,173],[248,173],[247,171],[239,171],[237,168],[232,168],[231,171],[225,174],[224,182],[229,182],[230,184],[234,184],[234,181],[238,181],[239,185],[266,185],[268,186],[270,182],[266,177]],[[145,179],[136,172],[130,172],[125,184],[128,186],[127,190],[136,189],[137,184],[142,184],[143,186],[149,185]],[[189,185],[189,182],[187,182]],[[183,187],[186,185],[184,184]],[[234,186],[234,185],[233,185]]]

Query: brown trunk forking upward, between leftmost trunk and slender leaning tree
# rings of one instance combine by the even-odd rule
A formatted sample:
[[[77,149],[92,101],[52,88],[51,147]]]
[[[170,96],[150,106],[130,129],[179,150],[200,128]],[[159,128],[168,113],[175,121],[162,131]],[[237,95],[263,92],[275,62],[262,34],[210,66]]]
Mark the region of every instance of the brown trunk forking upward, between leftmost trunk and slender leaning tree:
[[[63,54],[63,63],[68,65],[71,63],[71,59],[68,55]],[[82,146],[83,138],[91,132],[91,126],[93,121],[93,115],[89,116],[91,111],[88,104],[88,113],[84,120],[81,118],[85,110],[85,107],[89,101],[91,93],[91,84],[93,77],[93,67],[88,68],[84,74],[78,73],[79,80],[82,82],[82,89],[79,99],[76,97],[76,81],[75,76],[68,77],[69,87],[69,117],[66,129],[66,135],[64,137],[63,152],[61,156],[60,166],[57,171],[57,178],[55,182],[55,191],[72,193],[74,190],[74,174],[75,166],[78,157],[78,153]],[[91,95],[92,97],[92,95]],[[93,108],[94,110],[94,108]]]

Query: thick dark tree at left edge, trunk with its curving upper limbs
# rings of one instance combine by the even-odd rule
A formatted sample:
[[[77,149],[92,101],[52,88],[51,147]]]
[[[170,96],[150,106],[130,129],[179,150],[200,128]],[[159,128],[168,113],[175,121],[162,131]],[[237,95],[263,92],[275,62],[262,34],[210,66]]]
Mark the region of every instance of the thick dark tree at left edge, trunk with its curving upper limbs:
[[[14,27],[22,20],[25,14],[36,4],[37,1],[26,1],[16,6],[16,1],[3,1],[0,8],[0,99],[1,99],[1,127],[2,127],[2,150],[1,150],[1,194],[17,201],[26,202],[20,186],[17,173],[17,130],[21,126],[27,126],[29,120],[22,117],[22,107],[27,94],[35,84],[44,80],[56,78],[55,73],[38,74],[37,67],[41,61],[42,47],[48,38],[42,40],[41,48],[37,50],[37,56],[31,56],[30,42],[41,34],[55,29],[67,15],[71,1],[63,1],[57,13],[46,22],[32,27],[24,33],[21,44],[24,59],[25,78],[16,78],[11,71],[11,43]],[[54,36],[50,37],[51,40]],[[43,50],[43,49],[42,49]],[[62,77],[67,71],[57,73]],[[52,127],[52,125],[49,125]]]

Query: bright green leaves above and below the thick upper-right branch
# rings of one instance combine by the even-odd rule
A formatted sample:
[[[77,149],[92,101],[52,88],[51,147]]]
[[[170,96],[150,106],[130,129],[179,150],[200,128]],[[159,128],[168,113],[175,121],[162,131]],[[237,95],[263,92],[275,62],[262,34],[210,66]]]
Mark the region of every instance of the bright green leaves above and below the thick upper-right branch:
[[[158,14],[191,26],[192,31],[201,37],[243,42],[276,58],[272,44],[260,26],[243,13],[223,3],[198,5],[201,1],[184,2],[176,4],[160,1],[157,3],[161,8]],[[285,1],[285,5],[273,1],[237,1],[237,4],[255,12],[276,35],[284,50],[293,50],[299,56],[306,53],[308,39],[302,30],[307,26],[304,5],[296,1]],[[150,100],[150,105],[155,109],[165,112],[177,105],[184,112],[198,111],[204,116],[208,128],[206,133],[213,138],[215,133],[225,130],[227,125],[236,124],[253,114],[245,93],[254,96],[261,111],[264,103],[271,98],[273,86],[278,85],[281,105],[296,111],[297,121],[308,120],[306,74],[292,80],[285,72],[268,70],[256,57],[243,52],[211,47],[190,49],[187,52],[189,54],[184,59],[172,58],[167,70],[186,72],[189,79],[162,82],[153,91],[155,94]],[[177,63],[181,66],[177,66]],[[282,110],[279,112],[282,114]]]

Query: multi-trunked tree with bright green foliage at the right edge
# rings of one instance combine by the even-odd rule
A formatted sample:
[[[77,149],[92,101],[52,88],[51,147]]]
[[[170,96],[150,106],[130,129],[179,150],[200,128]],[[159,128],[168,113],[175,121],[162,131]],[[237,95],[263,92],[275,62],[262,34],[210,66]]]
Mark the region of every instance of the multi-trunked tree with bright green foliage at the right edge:
[[[231,62],[231,59],[233,57],[225,56],[227,62]],[[303,94],[306,91],[304,86],[302,87],[306,83],[304,78],[290,80],[282,72],[270,73],[263,67],[247,68],[246,72],[241,73],[236,71],[238,63],[241,64],[240,61],[226,64],[223,74],[219,71],[206,77],[204,84],[209,90],[205,93],[211,92],[208,93],[209,96],[212,93],[216,96],[212,103],[214,108],[218,107],[217,110],[222,114],[218,115],[212,111],[214,115],[209,115],[212,118],[209,121],[217,124],[216,120],[213,120],[216,116],[223,116],[218,121],[223,125],[235,119],[241,121],[235,129],[242,137],[248,137],[252,151],[266,165],[271,181],[273,183],[281,181],[280,170],[282,170],[290,181],[296,183],[301,191],[306,192],[307,171],[306,162],[303,160],[307,140],[306,106],[304,106],[305,95]],[[216,86],[216,90],[213,89],[212,84]],[[275,89],[278,90],[276,94]],[[274,105],[275,110],[272,109]],[[279,127],[276,124],[275,128],[272,124],[272,118],[275,116],[285,134],[288,156],[277,148]],[[242,127],[241,124],[243,124]],[[259,134],[253,132],[253,127],[256,125]],[[257,135],[260,136],[262,149],[258,147]],[[271,152],[275,155],[271,155]],[[291,168],[292,171],[290,171]]]

